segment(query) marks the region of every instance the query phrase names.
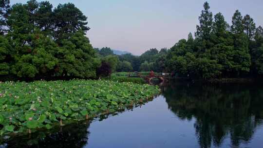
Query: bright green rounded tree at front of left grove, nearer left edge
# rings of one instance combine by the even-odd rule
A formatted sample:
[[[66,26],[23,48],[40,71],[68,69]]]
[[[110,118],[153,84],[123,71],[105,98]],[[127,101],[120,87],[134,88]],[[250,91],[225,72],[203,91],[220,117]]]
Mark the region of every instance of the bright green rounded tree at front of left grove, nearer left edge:
[[[23,54],[15,52],[12,55],[15,59],[12,73],[21,78],[50,77],[58,64],[58,59],[52,54],[57,50],[56,44],[50,38],[38,33],[28,36],[32,40],[30,44],[24,46],[26,51]]]

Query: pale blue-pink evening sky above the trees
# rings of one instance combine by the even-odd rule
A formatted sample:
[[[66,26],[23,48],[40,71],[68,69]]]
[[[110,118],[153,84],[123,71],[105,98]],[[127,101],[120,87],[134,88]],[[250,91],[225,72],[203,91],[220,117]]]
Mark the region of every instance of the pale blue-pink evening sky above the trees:
[[[11,4],[28,0],[10,0]],[[38,0],[42,1],[42,0]],[[93,47],[110,47],[141,55],[150,48],[170,48],[178,40],[194,35],[206,0],[47,0],[54,7],[74,3],[91,28]],[[215,15],[221,12],[231,25],[235,10],[249,14],[263,26],[263,0],[207,0]]]

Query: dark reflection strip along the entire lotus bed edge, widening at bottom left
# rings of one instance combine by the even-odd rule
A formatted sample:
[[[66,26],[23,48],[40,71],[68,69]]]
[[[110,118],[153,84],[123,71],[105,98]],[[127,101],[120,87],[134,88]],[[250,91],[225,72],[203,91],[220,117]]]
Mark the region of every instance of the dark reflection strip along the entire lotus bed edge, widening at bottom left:
[[[149,98],[148,101],[128,106],[127,110],[133,111],[133,109],[142,107],[150,101],[152,101],[152,98]],[[103,121],[110,116],[118,115],[118,113],[127,110],[100,115],[94,120]],[[12,136],[9,140],[0,139],[0,148],[83,148],[88,145],[89,127],[94,120],[57,127],[51,131],[37,131],[31,135]]]

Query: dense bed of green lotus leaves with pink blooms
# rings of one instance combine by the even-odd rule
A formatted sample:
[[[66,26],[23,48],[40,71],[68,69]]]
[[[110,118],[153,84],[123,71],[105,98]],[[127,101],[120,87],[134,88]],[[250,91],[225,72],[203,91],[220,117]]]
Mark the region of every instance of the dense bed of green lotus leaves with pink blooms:
[[[113,113],[159,92],[157,86],[107,80],[0,83],[0,136]]]

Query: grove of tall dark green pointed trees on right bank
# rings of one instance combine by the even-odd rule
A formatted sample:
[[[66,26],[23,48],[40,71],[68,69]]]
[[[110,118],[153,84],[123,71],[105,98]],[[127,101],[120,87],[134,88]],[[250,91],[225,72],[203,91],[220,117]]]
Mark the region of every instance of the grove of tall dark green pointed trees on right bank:
[[[181,39],[170,48],[164,57],[165,69],[193,78],[240,77],[249,75],[251,70],[261,74],[262,28],[255,31],[253,19],[249,15],[243,19],[237,10],[229,29],[221,13],[212,19],[209,8],[205,2],[196,38],[189,34],[188,40]]]

